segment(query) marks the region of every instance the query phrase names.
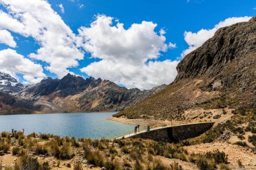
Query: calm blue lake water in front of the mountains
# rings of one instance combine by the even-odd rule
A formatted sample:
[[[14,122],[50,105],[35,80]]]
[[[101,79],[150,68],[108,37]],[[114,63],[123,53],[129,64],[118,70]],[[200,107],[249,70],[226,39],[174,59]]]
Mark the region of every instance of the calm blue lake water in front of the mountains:
[[[61,137],[75,138],[108,138],[122,136],[133,130],[133,126],[106,120],[113,112],[72,113],[72,114],[22,114],[0,116],[0,132],[11,132],[11,129],[25,134],[36,132],[49,133]]]

